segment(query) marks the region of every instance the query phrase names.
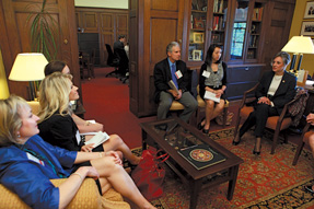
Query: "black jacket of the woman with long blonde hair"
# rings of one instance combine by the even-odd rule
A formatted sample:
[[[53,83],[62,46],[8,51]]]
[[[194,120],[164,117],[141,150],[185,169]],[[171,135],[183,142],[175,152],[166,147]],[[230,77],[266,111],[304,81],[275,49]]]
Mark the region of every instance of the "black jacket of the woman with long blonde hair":
[[[81,151],[82,141],[78,144],[75,135],[78,127],[70,115],[61,116],[55,113],[48,119],[38,124],[39,136],[53,146],[70,151]]]

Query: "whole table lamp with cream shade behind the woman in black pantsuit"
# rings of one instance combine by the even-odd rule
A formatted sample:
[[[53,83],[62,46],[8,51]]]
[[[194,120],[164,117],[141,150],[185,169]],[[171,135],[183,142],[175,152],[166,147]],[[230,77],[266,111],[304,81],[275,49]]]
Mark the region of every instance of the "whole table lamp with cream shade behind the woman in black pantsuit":
[[[314,54],[314,46],[311,37],[309,36],[293,36],[281,50],[286,53],[293,53],[290,72],[298,74],[303,59],[303,54]],[[294,70],[298,55],[300,55],[299,63],[296,70]]]

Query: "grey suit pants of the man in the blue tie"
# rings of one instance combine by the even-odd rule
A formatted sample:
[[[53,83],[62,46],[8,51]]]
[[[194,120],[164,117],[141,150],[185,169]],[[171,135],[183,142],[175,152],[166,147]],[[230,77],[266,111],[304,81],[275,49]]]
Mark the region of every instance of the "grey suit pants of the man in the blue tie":
[[[160,103],[158,107],[158,119],[165,119],[168,113],[168,109],[172,105],[174,97],[172,94],[162,91],[160,93]],[[179,118],[188,123],[190,115],[197,109],[197,101],[193,97],[189,92],[184,92],[182,97],[177,100],[185,108],[179,115]]]

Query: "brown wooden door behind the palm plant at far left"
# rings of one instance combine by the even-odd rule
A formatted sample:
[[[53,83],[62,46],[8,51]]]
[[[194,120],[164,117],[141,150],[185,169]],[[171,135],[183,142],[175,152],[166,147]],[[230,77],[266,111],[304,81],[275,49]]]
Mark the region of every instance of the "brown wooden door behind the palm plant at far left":
[[[26,7],[33,12],[39,11],[43,0],[5,0],[0,1],[1,38],[0,47],[7,77],[9,77],[15,57],[20,53],[31,53],[30,24],[26,20],[30,14]],[[79,51],[77,24],[73,0],[47,0],[47,9],[59,27],[57,59],[67,62],[73,74],[73,82],[81,86],[79,70]],[[31,19],[32,20],[32,19]],[[3,26],[5,25],[5,26]],[[10,93],[28,100],[27,82],[9,81]]]

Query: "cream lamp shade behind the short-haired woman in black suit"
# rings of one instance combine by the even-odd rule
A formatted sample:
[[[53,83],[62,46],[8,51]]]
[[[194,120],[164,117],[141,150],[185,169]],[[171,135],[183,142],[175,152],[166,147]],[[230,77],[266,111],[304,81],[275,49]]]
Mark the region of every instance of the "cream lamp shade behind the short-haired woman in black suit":
[[[314,46],[311,37],[293,36],[281,50],[287,53],[314,54]]]

